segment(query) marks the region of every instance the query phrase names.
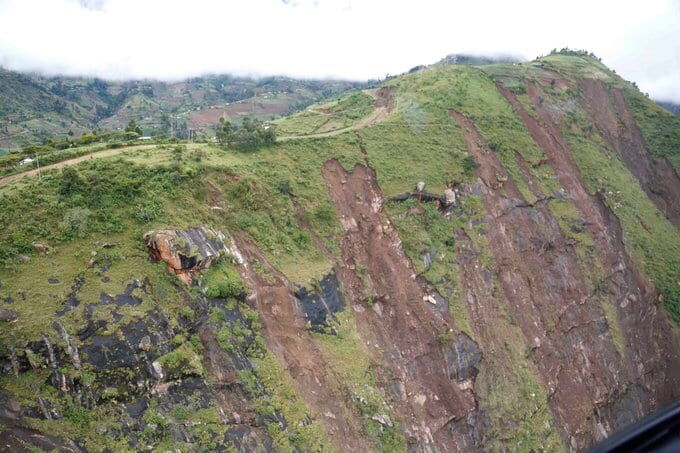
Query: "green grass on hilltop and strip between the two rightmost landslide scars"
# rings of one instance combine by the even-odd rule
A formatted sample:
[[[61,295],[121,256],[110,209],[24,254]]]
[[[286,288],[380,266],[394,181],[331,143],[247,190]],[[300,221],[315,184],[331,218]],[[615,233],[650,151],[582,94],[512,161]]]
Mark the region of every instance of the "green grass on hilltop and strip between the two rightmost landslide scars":
[[[551,55],[534,62],[484,68],[495,79],[512,88],[524,79],[537,81],[562,77],[576,85],[578,78],[597,78],[621,89],[653,158],[665,157],[676,171],[680,168],[680,119],[646,98],[593,57]],[[513,85],[515,84],[515,85]],[[564,110],[563,134],[590,193],[603,191],[624,231],[626,248],[663,294],[664,305],[680,322],[680,236],[651,203],[637,180],[592,127],[578,104],[581,94],[545,87],[546,100]],[[531,103],[518,98],[530,114]],[[507,165],[506,165],[507,167]],[[547,180],[546,180],[547,181]],[[580,238],[583,240],[583,238]]]

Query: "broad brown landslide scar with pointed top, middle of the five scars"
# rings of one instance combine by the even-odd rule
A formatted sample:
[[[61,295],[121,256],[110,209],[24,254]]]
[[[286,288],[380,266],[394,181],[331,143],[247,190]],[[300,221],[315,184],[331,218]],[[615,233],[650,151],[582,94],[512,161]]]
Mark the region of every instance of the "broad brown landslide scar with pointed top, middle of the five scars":
[[[479,164],[490,217],[487,238],[508,308],[530,347],[566,443],[583,448],[593,442],[588,419],[595,404],[619,387],[620,358],[611,334],[596,322],[604,313],[588,293],[576,252],[547,203],[528,205],[472,122],[456,112],[452,116]]]

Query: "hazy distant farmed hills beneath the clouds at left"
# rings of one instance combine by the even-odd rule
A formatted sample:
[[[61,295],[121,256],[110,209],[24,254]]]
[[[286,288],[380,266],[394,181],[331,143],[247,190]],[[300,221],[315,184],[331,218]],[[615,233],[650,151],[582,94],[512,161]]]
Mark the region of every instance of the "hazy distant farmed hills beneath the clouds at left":
[[[119,129],[134,119],[144,134],[183,137],[221,116],[271,119],[362,84],[346,81],[249,79],[230,75],[180,82],[46,77],[0,68],[0,148]]]

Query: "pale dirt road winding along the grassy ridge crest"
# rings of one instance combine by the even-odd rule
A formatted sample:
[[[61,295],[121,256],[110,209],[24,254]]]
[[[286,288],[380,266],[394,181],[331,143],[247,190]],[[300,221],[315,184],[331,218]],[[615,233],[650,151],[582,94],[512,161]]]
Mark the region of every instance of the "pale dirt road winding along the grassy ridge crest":
[[[363,129],[365,127],[373,126],[374,124],[384,120],[387,118],[387,116],[392,112],[393,108],[393,99],[392,99],[392,90],[390,88],[379,88],[377,90],[371,90],[367,91],[368,94],[370,94],[373,99],[375,99],[375,110],[373,113],[364,118],[363,120],[359,121],[356,124],[353,124],[348,127],[343,127],[342,129],[336,129],[334,131],[328,131],[328,132],[321,132],[318,134],[308,134],[308,135],[289,135],[289,136],[284,136],[284,137],[278,137],[277,141],[279,142],[285,142],[285,141],[290,141],[290,140],[302,140],[306,138],[321,138],[321,137],[332,137],[335,135],[340,135],[345,132],[349,131],[356,131],[359,129]],[[101,159],[104,157],[111,157],[115,156],[117,154],[130,151],[133,149],[138,149],[141,147],[145,147],[149,145],[136,145],[136,146],[130,146],[130,147],[124,147],[124,148],[116,148],[116,149],[107,149],[104,151],[96,151],[90,154],[85,154],[84,156],[80,157],[75,157],[73,159],[67,159],[63,160],[61,162],[57,162],[56,164],[51,164],[51,165],[45,165],[44,167],[40,167],[40,170],[34,169],[34,170],[28,170],[22,173],[17,173],[15,175],[10,175],[6,176],[4,178],[0,178],[0,186],[4,186],[6,184],[18,181],[26,176],[35,176],[38,174],[39,171],[47,171],[47,170],[52,170],[52,169],[58,169],[58,168],[63,168],[68,165],[74,165],[78,164],[80,162],[84,162],[86,160],[90,159]]]

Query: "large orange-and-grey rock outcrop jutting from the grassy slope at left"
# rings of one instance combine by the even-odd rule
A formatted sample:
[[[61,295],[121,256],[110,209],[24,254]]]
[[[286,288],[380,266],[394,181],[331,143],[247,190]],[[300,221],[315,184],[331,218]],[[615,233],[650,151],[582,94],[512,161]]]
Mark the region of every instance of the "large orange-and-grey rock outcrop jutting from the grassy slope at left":
[[[151,257],[164,261],[168,272],[177,275],[187,285],[221,256],[234,255],[225,241],[224,234],[205,227],[186,231],[150,231],[144,235]],[[236,259],[239,258],[236,256]]]

